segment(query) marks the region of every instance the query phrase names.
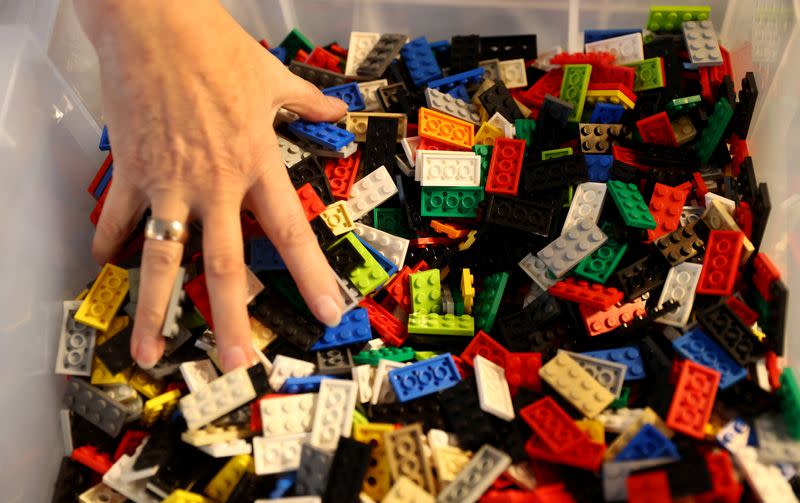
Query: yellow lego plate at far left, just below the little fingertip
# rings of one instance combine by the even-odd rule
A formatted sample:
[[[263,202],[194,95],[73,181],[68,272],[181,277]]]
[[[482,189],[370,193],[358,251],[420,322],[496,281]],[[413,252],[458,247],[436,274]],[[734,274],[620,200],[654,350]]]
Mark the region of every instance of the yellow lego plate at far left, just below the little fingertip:
[[[108,330],[127,293],[128,271],[112,264],[104,265],[75,313],[75,320],[98,330]]]

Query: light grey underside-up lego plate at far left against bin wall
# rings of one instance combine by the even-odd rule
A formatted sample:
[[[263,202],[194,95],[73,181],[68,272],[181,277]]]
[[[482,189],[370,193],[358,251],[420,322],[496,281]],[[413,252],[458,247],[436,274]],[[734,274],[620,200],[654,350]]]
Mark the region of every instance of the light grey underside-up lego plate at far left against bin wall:
[[[89,377],[97,329],[75,321],[82,300],[64,301],[61,335],[56,354],[56,374]]]

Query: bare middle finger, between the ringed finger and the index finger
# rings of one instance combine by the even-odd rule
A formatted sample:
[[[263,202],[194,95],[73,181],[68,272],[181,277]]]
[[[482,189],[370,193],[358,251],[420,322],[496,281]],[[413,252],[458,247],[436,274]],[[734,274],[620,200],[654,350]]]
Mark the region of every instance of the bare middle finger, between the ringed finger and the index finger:
[[[247,315],[247,276],[239,221],[241,203],[210,204],[203,215],[203,264],[222,370],[256,361]]]

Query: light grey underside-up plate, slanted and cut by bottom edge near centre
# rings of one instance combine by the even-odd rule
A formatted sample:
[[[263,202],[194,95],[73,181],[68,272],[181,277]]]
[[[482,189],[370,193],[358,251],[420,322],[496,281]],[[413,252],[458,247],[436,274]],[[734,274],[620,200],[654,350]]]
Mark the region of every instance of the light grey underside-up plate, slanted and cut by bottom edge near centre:
[[[438,503],[474,503],[511,464],[505,452],[484,445],[436,498]]]

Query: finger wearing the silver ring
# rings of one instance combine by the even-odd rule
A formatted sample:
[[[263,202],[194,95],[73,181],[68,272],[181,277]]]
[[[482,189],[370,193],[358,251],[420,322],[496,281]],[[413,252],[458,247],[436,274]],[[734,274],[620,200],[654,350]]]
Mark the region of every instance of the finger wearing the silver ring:
[[[151,207],[153,218],[186,222],[189,217],[188,207],[171,196],[153,200]],[[136,320],[131,336],[131,355],[142,368],[152,368],[164,354],[161,328],[182,256],[180,243],[153,239],[144,242]]]

